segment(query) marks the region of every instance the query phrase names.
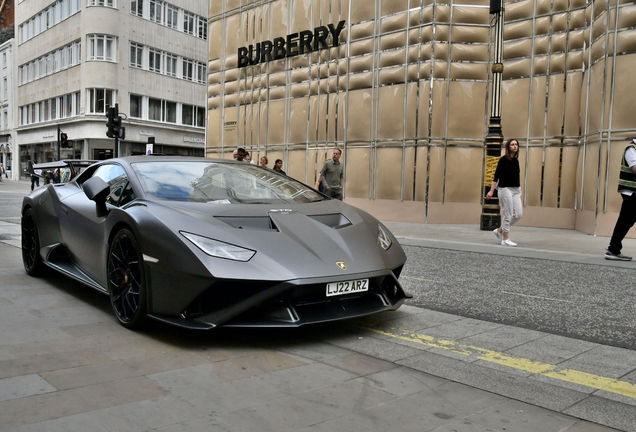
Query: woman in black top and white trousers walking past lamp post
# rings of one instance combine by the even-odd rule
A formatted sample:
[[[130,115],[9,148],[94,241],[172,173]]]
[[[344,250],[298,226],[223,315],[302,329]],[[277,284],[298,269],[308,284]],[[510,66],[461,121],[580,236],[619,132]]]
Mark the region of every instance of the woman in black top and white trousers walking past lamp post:
[[[520,171],[519,141],[511,138],[506,142],[504,155],[497,163],[492,185],[486,194],[486,199],[491,199],[497,188],[503,219],[501,226],[493,232],[502,246],[517,246],[510,240],[510,227],[521,219],[522,214]]]

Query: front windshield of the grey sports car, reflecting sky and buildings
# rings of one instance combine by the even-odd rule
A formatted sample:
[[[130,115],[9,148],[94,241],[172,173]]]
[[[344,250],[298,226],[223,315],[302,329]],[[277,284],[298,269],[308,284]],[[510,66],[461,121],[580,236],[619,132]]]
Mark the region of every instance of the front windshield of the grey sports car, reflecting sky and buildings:
[[[271,204],[324,199],[290,177],[248,163],[153,161],[132,167],[146,195],[161,200]]]

